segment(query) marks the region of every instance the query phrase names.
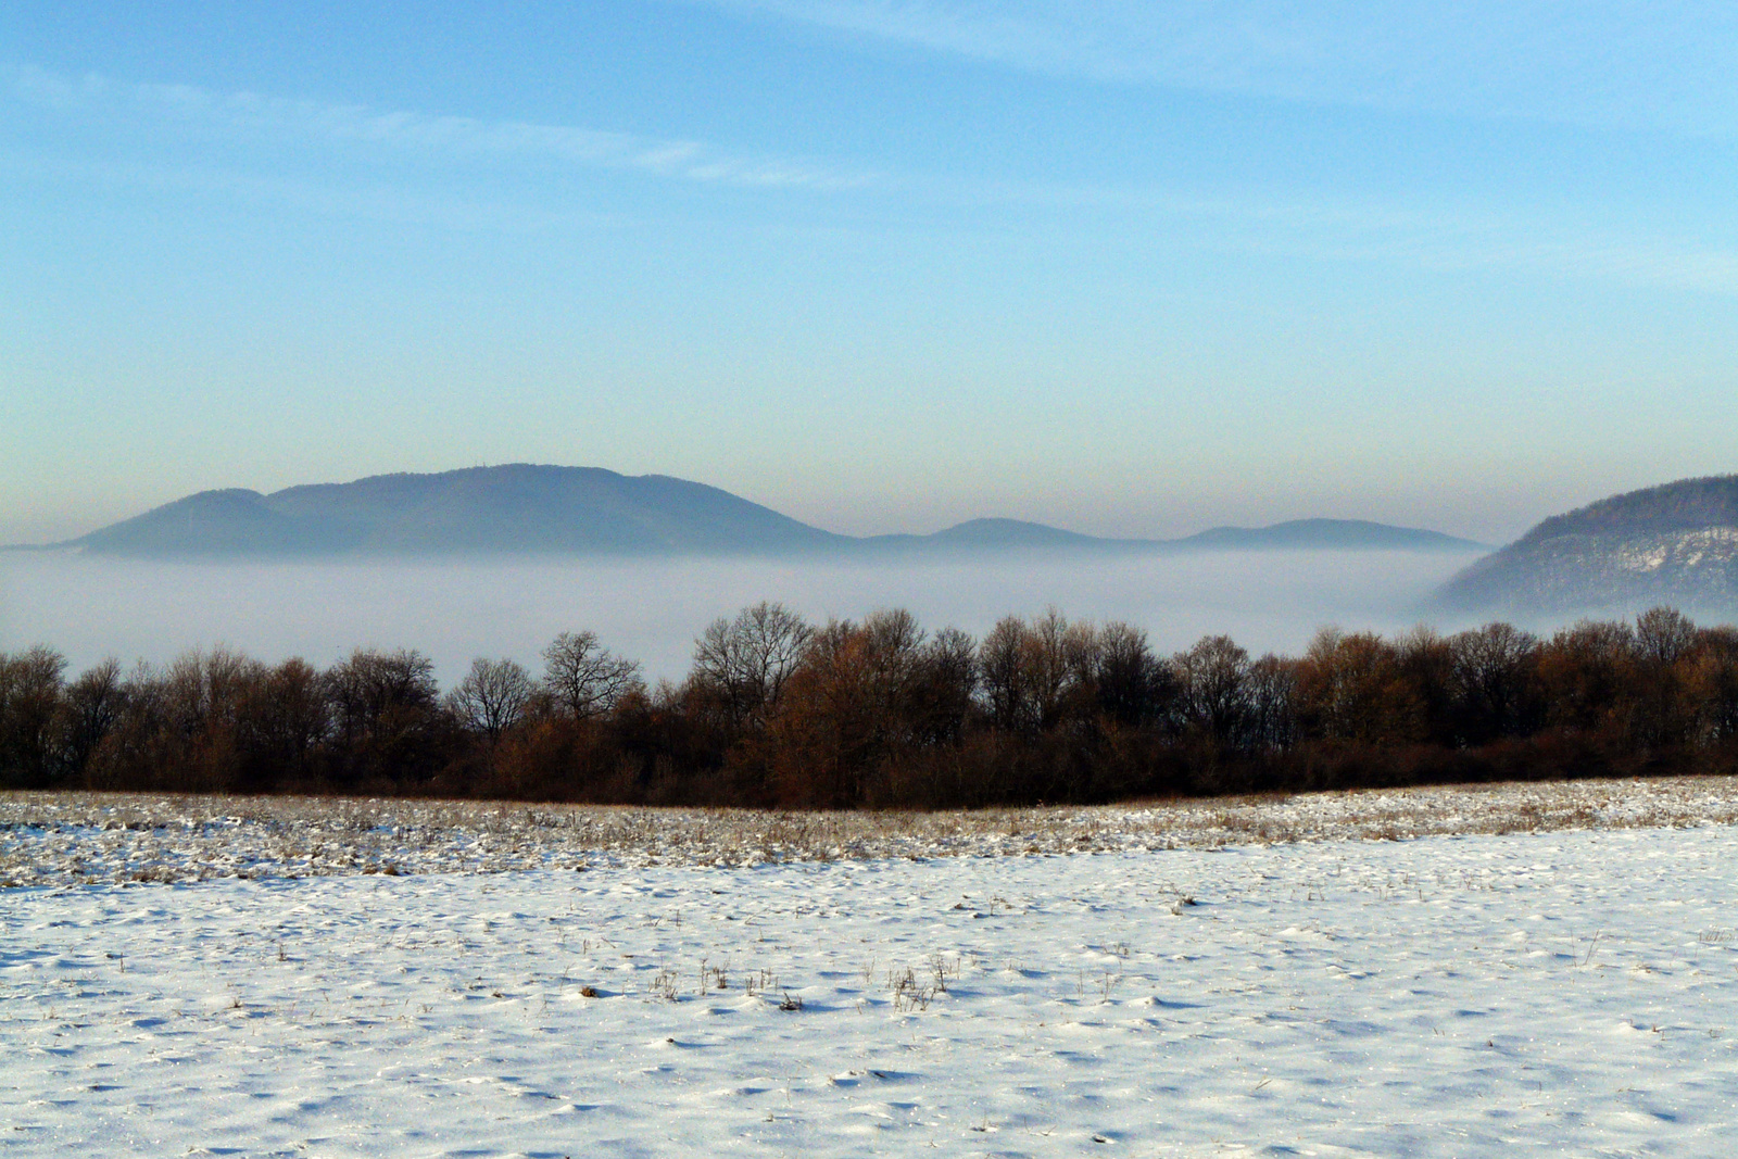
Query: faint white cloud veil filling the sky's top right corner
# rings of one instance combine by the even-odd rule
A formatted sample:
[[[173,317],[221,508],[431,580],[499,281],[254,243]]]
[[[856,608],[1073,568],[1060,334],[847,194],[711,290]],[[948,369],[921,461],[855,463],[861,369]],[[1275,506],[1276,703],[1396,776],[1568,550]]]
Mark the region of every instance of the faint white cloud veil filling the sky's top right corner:
[[[1738,9],[1710,0],[690,2],[1112,83],[1738,136]]]

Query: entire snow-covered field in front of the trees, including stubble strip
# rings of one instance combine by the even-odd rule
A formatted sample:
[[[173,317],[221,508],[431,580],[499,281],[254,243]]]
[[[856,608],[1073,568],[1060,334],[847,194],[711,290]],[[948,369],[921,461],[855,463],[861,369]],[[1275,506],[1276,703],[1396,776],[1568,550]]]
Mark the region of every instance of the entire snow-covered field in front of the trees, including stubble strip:
[[[0,798],[0,1150],[1726,1156],[1735,796]]]

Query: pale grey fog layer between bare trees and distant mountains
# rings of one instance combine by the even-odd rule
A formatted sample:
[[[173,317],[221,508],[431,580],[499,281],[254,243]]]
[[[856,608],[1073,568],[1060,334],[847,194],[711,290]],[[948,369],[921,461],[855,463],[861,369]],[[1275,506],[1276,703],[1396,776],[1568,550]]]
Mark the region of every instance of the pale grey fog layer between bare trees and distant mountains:
[[[1173,652],[1225,632],[1251,652],[1302,652],[1324,624],[1404,631],[1470,556],[1389,551],[1203,553],[1144,558],[978,558],[923,563],[768,560],[511,560],[165,563],[0,556],[0,652],[45,643],[75,669],[103,657],[162,664],[228,645],[264,660],[330,664],[356,646],[419,648],[443,683],[473,657],[539,652],[591,629],[680,679],[720,615],[780,599],[815,620],[909,608],[928,627],[982,634],[1055,605],[1128,620]],[[1434,620],[1437,627],[1460,624]]]

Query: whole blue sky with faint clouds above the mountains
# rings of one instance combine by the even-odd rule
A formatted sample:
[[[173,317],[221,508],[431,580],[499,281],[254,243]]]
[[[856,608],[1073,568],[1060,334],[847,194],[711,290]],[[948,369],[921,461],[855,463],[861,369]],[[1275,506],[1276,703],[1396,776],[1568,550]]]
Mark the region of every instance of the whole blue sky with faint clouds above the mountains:
[[[1731,5],[497,7],[0,9],[0,540],[507,460],[1496,540],[1738,469]]]

